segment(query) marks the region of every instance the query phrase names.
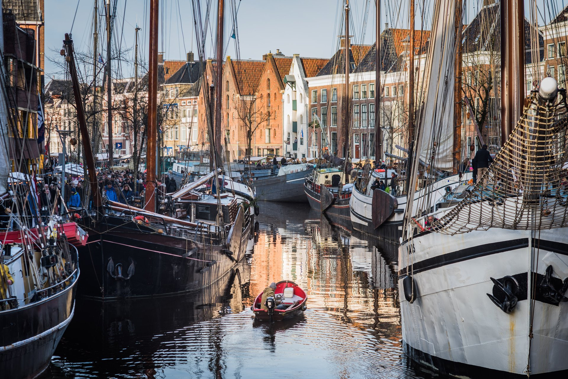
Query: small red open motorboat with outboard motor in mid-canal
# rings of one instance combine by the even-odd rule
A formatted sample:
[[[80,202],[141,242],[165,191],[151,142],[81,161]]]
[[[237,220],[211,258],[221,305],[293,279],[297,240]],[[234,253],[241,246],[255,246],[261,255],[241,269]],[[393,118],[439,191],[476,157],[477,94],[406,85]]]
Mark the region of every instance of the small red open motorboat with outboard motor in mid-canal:
[[[266,299],[268,310],[262,309],[261,299],[262,292],[258,294],[253,306],[250,307],[254,312],[254,318],[272,322],[286,320],[304,313],[308,297],[298,284],[290,280],[281,280],[276,283],[274,297],[270,296]],[[278,304],[285,304],[288,307],[286,309],[276,309]]]

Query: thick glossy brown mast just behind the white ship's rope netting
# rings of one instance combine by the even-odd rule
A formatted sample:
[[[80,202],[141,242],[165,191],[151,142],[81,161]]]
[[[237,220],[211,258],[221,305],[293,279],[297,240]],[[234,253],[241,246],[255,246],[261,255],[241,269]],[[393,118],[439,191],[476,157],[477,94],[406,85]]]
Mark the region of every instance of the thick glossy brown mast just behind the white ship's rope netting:
[[[507,142],[513,125],[520,117],[525,97],[524,2],[502,0],[500,11],[501,146],[503,146]]]

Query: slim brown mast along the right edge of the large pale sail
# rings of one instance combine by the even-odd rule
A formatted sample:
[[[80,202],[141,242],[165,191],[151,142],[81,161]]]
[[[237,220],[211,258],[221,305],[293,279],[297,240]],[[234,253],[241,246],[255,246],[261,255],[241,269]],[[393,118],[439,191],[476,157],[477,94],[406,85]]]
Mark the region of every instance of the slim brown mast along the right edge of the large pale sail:
[[[457,174],[460,170],[461,161],[461,134],[462,134],[462,44],[461,44],[461,34],[462,34],[462,0],[456,0],[456,60],[454,61],[454,69],[456,70],[456,75],[454,77],[454,174]]]

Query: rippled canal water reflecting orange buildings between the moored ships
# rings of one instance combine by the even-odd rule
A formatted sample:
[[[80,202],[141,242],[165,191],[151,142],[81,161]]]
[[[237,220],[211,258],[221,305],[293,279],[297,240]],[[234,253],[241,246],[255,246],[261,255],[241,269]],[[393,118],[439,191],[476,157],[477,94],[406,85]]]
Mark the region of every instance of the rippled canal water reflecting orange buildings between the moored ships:
[[[202,292],[78,299],[46,377],[427,378],[403,356],[395,249],[307,205],[261,204],[245,262]],[[253,320],[272,281],[307,290],[303,317]]]

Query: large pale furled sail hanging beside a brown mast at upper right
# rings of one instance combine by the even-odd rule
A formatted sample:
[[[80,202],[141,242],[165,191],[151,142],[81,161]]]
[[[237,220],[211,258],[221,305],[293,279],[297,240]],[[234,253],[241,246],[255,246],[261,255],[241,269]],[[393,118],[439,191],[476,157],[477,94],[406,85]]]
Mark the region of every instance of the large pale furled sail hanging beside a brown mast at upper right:
[[[436,2],[424,68],[423,102],[417,102],[420,113],[415,151],[422,161],[446,171],[453,168],[456,3]],[[434,142],[435,158],[431,161]]]

